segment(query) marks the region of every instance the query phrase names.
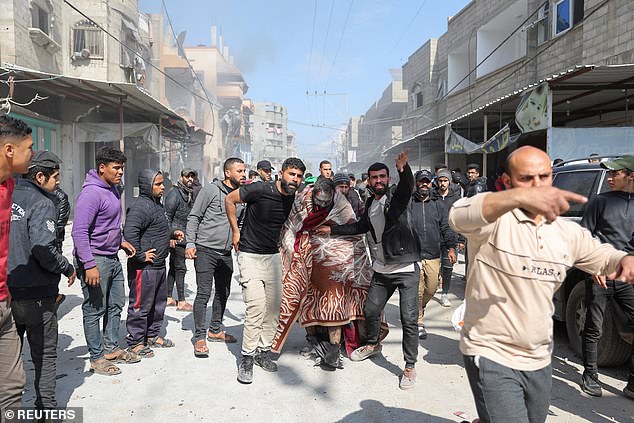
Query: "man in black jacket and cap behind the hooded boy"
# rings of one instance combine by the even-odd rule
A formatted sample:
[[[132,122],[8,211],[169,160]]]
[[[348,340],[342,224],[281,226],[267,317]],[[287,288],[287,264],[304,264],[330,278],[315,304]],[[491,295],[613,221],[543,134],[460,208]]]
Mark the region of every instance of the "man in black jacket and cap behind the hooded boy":
[[[170,223],[172,237],[170,240],[170,268],[167,273],[167,306],[176,306],[177,310],[192,311],[193,307],[185,299],[185,239],[177,240],[175,231],[185,233],[187,217],[194,205],[194,178],[198,173],[194,169],[185,168],[181,171],[181,177],[165,196],[165,213]],[[172,297],[176,283],[178,303]]]

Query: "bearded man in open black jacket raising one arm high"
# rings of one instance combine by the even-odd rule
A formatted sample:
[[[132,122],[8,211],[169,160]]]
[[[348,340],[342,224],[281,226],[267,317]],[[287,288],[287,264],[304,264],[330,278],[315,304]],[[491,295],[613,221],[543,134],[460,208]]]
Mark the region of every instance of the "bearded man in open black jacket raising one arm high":
[[[399,387],[408,389],[416,382],[418,356],[418,282],[420,279],[420,244],[411,226],[410,199],[414,191],[414,176],[407,164],[407,154],[396,157],[399,182],[396,189],[388,190],[389,169],[383,163],[368,168],[368,186],[373,197],[368,199],[365,212],[358,222],[341,226],[322,226],[318,233],[356,235],[367,232],[374,275],[370,283],[364,315],[367,331],[366,344],[350,355],[352,361],[361,361],[381,352],[379,330],[381,313],[394,291],[398,289],[403,325],[403,355],[405,370]]]

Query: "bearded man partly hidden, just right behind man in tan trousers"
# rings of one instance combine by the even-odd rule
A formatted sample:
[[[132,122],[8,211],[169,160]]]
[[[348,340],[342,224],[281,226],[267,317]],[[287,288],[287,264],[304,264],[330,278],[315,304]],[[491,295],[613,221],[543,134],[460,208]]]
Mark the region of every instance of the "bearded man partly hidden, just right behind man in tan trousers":
[[[432,197],[436,201],[443,205],[443,212],[445,216],[449,215],[449,210],[453,203],[460,199],[460,187],[451,183],[451,172],[449,169],[441,169],[436,173],[436,189],[432,191]],[[452,186],[455,187],[452,189]],[[459,243],[464,244],[464,238],[456,234],[456,240]],[[442,280],[442,294],[440,294],[440,305],[443,307],[450,307],[451,301],[449,301],[449,287],[451,286],[451,276],[453,274],[453,265],[456,263],[457,256],[454,250],[454,255],[449,255],[449,246],[441,242],[440,244],[440,258],[441,258],[441,280]]]

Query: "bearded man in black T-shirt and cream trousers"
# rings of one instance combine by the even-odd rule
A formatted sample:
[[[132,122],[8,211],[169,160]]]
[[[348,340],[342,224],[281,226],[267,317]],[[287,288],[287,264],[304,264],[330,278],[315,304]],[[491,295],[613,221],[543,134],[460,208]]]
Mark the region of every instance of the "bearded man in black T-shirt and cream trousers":
[[[244,185],[225,200],[246,305],[242,359],[238,367],[240,383],[253,381],[254,362],[265,371],[277,371],[270,350],[282,301],[282,262],[278,242],[305,171],[306,166],[300,159],[288,158],[282,164],[277,181]],[[242,232],[238,230],[236,217],[239,203],[247,205]]]

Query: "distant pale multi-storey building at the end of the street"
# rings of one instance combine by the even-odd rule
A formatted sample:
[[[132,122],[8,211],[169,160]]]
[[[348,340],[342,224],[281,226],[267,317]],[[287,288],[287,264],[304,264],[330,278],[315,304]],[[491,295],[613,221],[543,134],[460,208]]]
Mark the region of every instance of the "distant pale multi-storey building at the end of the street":
[[[277,103],[254,103],[250,116],[251,142],[253,150],[252,167],[260,160],[271,162],[275,170],[282,168],[288,157],[297,154],[295,136],[289,137],[288,115],[284,106]]]

